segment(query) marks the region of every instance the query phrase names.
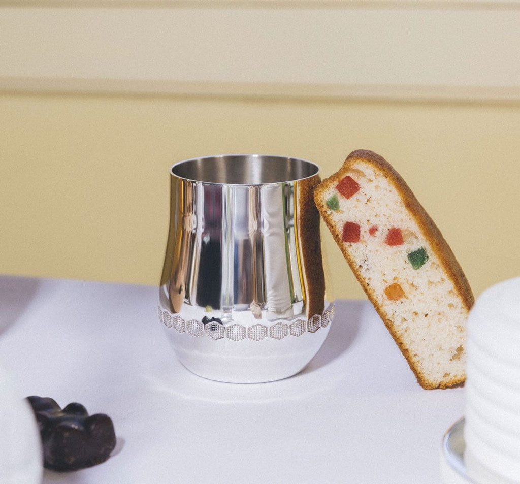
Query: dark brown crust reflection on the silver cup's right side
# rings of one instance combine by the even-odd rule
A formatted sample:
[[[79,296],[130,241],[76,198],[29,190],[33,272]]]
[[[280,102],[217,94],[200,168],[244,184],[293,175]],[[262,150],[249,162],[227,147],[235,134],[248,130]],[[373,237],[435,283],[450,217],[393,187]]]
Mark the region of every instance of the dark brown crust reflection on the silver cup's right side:
[[[320,182],[315,175],[298,181],[297,184],[297,230],[300,232],[300,251],[304,270],[302,271],[305,289],[307,317],[321,315],[324,309],[325,276],[321,257],[320,214],[314,203],[314,190]],[[306,237],[316,234],[316,237]]]

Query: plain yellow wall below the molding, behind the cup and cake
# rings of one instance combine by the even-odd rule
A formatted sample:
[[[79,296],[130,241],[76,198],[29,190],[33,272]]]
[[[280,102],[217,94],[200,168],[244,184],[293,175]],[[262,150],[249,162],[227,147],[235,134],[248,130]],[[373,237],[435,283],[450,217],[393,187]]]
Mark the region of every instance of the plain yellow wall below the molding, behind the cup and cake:
[[[520,106],[0,96],[0,272],[158,284],[169,167],[217,153],[390,161],[479,294],[520,275]],[[335,295],[363,297],[323,233]]]

